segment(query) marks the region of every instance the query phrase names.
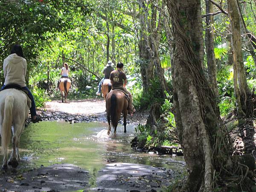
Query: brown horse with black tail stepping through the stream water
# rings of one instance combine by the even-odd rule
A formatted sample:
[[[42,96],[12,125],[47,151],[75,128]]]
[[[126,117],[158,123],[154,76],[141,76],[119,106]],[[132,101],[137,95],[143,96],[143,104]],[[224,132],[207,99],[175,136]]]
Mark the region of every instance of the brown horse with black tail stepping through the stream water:
[[[116,127],[120,119],[121,113],[124,117],[124,133],[126,133],[126,116],[128,113],[128,100],[125,97],[125,93],[120,90],[113,90],[108,93],[106,97],[106,108],[107,108],[107,118],[108,118],[108,135],[111,131],[111,125],[114,128],[114,137],[116,137]]]

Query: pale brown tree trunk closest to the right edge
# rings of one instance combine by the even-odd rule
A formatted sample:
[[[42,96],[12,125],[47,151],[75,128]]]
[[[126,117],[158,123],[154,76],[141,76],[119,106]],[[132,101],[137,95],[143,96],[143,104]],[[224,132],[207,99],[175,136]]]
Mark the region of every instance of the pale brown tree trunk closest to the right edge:
[[[237,74],[237,79],[234,79],[234,87],[236,88],[236,81],[239,84],[239,94],[240,94],[240,102],[241,107],[247,115],[250,115],[250,107],[247,107],[247,99],[250,97],[250,89],[247,85],[245,70],[244,70],[244,62],[242,55],[242,45],[241,45],[241,29],[240,29],[240,17],[238,11],[238,5],[236,0],[228,0],[228,15],[230,18],[230,26],[232,33],[232,53],[233,53],[233,70],[236,70],[234,74]],[[236,76],[234,76],[236,78]],[[236,90],[238,91],[238,90]],[[238,102],[238,98],[237,102]],[[236,105],[238,107],[238,105]],[[237,108],[237,112],[239,115],[243,115],[241,109]]]

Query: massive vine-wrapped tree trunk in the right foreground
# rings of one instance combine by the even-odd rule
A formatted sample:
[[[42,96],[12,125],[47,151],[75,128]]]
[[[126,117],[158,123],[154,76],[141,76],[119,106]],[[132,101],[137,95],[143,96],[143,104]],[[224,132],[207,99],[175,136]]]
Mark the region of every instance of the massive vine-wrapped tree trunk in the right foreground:
[[[213,172],[229,159],[230,145],[218,138],[229,136],[224,134],[215,96],[203,73],[201,3],[166,0],[166,4],[176,41],[172,62],[175,122],[189,173],[184,191],[210,192]]]

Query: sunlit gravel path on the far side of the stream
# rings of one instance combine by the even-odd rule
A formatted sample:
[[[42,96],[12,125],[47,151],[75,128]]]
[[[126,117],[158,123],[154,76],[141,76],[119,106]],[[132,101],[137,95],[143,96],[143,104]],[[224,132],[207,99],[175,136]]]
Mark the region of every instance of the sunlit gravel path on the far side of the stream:
[[[67,103],[61,103],[61,101],[47,102],[44,108],[38,110],[38,114],[44,121],[107,122],[105,110],[103,99],[83,99],[69,100]],[[128,115],[127,123],[144,123],[147,116],[148,111],[138,111],[133,116]]]

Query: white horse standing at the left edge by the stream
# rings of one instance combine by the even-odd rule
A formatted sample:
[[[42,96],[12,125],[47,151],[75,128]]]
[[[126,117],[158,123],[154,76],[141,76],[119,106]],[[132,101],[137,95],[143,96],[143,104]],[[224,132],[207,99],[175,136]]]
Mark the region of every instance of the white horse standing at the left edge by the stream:
[[[2,137],[3,169],[7,169],[7,149],[12,130],[12,154],[8,165],[16,168],[20,160],[20,135],[25,126],[31,100],[20,90],[6,89],[0,91],[0,134]],[[12,128],[13,126],[13,128]]]

